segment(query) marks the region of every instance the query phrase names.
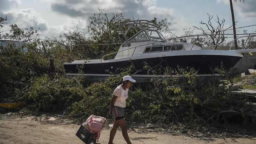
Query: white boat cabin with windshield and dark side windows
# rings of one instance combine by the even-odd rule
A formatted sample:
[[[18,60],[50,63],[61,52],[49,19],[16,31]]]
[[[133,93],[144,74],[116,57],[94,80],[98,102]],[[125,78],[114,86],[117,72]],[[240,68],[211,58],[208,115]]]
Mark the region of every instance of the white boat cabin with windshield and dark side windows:
[[[142,29],[120,46],[115,59],[154,52],[199,50],[200,48],[191,43],[166,42],[164,36],[157,30]]]

